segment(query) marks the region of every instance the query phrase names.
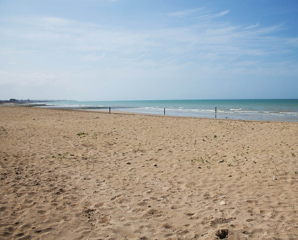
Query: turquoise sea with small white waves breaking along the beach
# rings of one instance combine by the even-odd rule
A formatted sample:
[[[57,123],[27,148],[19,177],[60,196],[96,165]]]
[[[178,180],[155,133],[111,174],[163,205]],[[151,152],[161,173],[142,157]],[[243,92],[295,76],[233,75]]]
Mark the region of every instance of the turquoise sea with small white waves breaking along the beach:
[[[298,121],[298,99],[214,99],[47,102],[39,107],[100,109],[219,119]],[[215,112],[216,108],[216,112]]]

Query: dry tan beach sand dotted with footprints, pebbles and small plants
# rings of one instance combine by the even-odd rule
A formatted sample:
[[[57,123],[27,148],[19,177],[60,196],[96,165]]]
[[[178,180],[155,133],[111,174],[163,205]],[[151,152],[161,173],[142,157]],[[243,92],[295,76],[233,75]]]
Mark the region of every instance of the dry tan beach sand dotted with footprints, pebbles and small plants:
[[[297,144],[291,122],[0,106],[0,238],[298,239]]]

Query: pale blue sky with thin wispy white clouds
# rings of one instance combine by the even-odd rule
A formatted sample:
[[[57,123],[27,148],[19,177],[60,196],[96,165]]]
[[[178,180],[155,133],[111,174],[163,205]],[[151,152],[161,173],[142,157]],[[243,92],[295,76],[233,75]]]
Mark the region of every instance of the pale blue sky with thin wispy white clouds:
[[[298,1],[0,0],[0,99],[298,98]]]

